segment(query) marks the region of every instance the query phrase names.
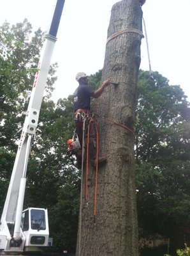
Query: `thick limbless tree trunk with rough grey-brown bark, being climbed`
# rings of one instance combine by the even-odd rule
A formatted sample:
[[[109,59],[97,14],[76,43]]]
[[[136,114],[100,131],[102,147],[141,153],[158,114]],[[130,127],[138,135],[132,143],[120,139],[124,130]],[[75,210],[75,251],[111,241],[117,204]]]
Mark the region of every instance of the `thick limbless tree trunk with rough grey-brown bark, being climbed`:
[[[141,31],[142,10],[138,0],[122,0],[113,5],[108,28],[108,38],[113,38],[106,44],[102,81],[110,78],[119,85],[108,86],[92,102],[92,109],[98,114],[99,156],[107,156],[108,161],[98,168],[96,216],[96,170],[89,169],[88,207],[85,170],[83,173],[77,256],[138,255],[133,134],[103,117],[134,130]]]

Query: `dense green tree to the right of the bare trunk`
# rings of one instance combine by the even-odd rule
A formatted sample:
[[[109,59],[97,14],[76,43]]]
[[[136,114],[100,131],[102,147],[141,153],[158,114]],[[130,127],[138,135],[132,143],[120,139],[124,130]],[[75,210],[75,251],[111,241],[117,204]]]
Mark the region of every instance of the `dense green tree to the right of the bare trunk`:
[[[159,233],[171,246],[189,241],[189,102],[179,85],[139,73],[136,188],[140,236]],[[190,241],[189,241],[190,242]]]

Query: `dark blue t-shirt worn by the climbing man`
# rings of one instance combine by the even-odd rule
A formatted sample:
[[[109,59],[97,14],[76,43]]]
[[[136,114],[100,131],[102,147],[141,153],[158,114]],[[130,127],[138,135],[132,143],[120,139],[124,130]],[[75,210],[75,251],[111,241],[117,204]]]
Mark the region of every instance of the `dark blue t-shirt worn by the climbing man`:
[[[74,111],[79,108],[91,109],[91,96],[94,93],[89,86],[80,84],[74,93]]]

